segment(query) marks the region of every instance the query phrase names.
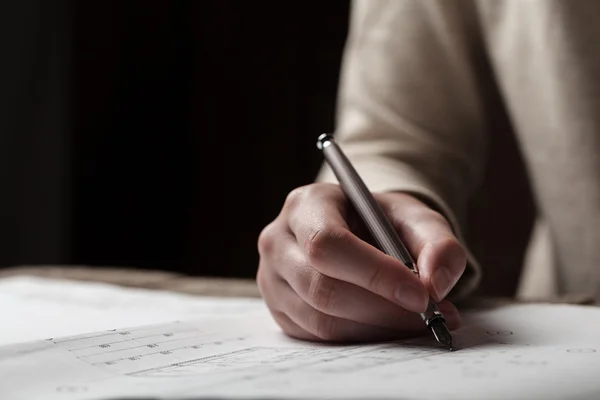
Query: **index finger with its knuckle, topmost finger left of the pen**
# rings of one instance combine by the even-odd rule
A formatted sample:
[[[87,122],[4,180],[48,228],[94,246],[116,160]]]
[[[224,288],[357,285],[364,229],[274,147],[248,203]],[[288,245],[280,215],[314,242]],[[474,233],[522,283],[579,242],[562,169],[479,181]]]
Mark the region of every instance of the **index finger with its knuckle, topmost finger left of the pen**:
[[[347,203],[337,186],[308,189],[294,196],[287,220],[312,268],[407,310],[422,312],[427,308],[428,293],[423,283],[399,260],[348,229]]]

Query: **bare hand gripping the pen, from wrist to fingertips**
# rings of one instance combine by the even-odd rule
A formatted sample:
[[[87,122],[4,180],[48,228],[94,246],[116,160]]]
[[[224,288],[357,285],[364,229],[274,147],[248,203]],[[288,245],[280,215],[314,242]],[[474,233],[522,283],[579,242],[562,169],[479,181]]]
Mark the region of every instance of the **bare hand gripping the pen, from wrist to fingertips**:
[[[339,186],[295,189],[258,239],[258,286],[287,335],[375,341],[422,334],[418,313],[429,295],[443,300],[462,275],[466,253],[443,216],[408,194],[375,198],[417,260],[421,279],[369,244]],[[439,306],[456,329],[456,308],[446,300]]]

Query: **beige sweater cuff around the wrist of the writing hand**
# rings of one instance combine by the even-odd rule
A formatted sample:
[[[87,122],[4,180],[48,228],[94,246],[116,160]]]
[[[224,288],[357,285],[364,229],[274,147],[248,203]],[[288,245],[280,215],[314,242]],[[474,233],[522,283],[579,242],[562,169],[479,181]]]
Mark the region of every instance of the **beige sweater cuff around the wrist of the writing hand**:
[[[372,157],[356,156],[352,159],[352,163],[371,192],[411,194],[448,220],[454,235],[467,252],[465,271],[450,291],[448,299],[450,301],[462,300],[472,294],[481,280],[481,267],[465,243],[455,213],[438,194],[438,191],[434,189],[434,186],[427,181],[426,177],[405,163],[387,158],[373,159]],[[316,181],[339,183],[327,164],[323,164]]]

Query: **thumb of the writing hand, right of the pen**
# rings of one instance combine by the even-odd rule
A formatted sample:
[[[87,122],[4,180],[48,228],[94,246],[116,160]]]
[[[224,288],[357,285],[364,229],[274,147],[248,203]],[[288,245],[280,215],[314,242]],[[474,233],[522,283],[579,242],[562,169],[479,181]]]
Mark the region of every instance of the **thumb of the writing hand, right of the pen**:
[[[463,274],[467,254],[450,224],[415,197],[404,193],[377,196],[384,212],[417,262],[420,277],[437,302]]]

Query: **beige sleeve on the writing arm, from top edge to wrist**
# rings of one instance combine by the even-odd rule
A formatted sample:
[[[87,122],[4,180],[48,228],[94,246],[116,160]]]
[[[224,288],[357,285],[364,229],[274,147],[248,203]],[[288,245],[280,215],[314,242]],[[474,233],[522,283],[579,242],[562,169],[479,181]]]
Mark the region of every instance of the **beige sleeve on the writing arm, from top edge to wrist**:
[[[462,1],[356,0],[342,64],[338,143],[374,192],[414,195],[459,241],[485,153],[475,14]],[[323,166],[318,177],[335,182]],[[452,296],[472,291],[468,265]]]

